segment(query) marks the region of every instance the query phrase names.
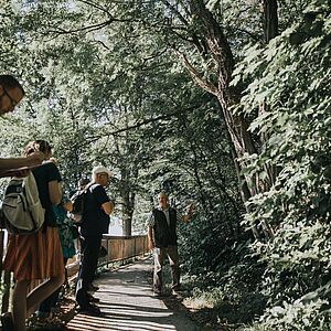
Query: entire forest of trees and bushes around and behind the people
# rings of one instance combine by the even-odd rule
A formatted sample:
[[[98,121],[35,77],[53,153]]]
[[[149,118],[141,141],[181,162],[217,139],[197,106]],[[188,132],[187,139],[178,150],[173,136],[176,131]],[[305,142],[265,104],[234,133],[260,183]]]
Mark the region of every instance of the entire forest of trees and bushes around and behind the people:
[[[1,73],[25,97],[0,118],[0,154],[46,139],[66,192],[108,167],[128,236],[146,233],[160,191],[180,211],[193,202],[183,279],[220,330],[330,330],[330,0],[1,0]]]

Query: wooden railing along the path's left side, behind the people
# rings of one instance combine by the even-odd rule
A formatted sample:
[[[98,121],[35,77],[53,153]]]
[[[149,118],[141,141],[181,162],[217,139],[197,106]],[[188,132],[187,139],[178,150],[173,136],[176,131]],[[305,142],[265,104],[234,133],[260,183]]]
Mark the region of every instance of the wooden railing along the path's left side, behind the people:
[[[10,290],[12,288],[11,273],[2,270],[3,252],[6,232],[0,229],[0,282],[1,282],[1,312],[8,311]],[[142,256],[148,252],[148,238],[147,235],[138,236],[103,236],[103,246],[107,249],[107,255],[99,259],[99,266],[107,266],[113,263],[125,264],[135,257]],[[68,276],[73,276],[78,269],[79,261],[71,259],[66,268]],[[38,286],[38,282],[33,284],[33,287]]]

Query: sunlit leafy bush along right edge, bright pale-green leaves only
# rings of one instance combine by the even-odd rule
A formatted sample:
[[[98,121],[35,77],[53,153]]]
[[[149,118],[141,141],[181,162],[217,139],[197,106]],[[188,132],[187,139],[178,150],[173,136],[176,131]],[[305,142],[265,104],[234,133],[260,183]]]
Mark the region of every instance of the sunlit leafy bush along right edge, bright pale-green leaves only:
[[[263,292],[269,306],[254,330],[330,327],[323,314],[328,298],[317,296],[309,305],[300,299],[330,280],[328,11],[328,1],[309,3],[300,23],[265,49],[247,49],[235,71],[234,84],[249,83],[236,111],[250,116],[267,105],[250,125],[265,142],[259,154],[245,157],[245,173],[264,180],[266,164],[278,169],[275,185],[248,202],[244,222],[268,221],[275,232],[271,241],[253,245],[267,265]]]

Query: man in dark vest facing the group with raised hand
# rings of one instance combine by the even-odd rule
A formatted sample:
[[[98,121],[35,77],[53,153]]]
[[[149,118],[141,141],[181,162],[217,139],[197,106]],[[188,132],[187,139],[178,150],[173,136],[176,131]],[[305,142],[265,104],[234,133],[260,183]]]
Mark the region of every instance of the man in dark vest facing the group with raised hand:
[[[158,195],[159,205],[152,210],[148,222],[148,247],[154,250],[153,291],[161,295],[162,291],[162,267],[168,256],[171,276],[172,290],[180,289],[180,267],[177,244],[177,222],[188,222],[193,212],[193,204],[189,206],[185,215],[169,205],[168,195]]]

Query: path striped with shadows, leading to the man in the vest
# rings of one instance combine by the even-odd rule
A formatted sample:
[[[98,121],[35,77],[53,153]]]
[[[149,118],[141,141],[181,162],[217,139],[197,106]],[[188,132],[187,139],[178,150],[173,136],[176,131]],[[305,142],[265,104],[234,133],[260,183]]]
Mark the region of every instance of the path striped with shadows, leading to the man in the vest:
[[[76,314],[67,330],[195,331],[201,330],[183,309],[171,309],[153,297],[150,275],[151,259],[143,259],[116,271],[103,274],[94,293],[100,299],[102,317]],[[173,299],[174,300],[174,299]]]

